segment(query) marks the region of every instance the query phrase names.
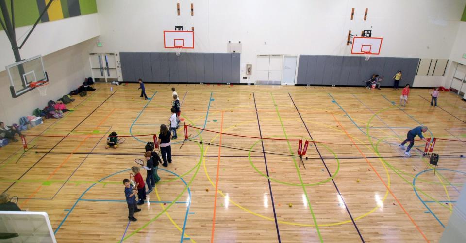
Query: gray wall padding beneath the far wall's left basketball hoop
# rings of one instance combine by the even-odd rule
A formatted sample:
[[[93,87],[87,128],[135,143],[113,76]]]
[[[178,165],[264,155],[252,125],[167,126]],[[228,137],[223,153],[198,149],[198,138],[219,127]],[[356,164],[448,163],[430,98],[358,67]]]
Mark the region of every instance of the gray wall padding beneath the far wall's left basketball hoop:
[[[120,52],[123,81],[239,83],[238,53]]]

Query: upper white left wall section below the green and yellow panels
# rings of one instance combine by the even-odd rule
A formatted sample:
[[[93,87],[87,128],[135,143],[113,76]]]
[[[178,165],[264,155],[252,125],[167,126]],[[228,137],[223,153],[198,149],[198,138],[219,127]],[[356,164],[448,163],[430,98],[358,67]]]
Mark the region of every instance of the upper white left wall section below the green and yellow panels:
[[[98,14],[90,14],[40,23],[19,51],[21,58],[28,59],[37,55],[45,56],[99,36],[98,21]],[[19,39],[17,41],[18,46],[22,43],[31,27],[32,25],[16,28],[16,36]],[[5,66],[15,63],[10,41],[3,30],[0,31],[0,53],[1,72],[5,70]]]

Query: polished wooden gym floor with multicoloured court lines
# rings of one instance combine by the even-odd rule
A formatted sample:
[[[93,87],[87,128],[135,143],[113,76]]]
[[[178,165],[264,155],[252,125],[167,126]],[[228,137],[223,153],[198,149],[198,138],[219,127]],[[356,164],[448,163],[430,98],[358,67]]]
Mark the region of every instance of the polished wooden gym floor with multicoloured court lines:
[[[426,137],[465,140],[466,102],[452,93],[441,92],[439,107],[431,107],[426,89],[412,89],[400,108],[401,90],[390,88],[146,84],[145,101],[137,84],[113,92],[95,86],[73,97],[74,112],[28,130],[29,152],[20,142],[0,149],[1,191],[17,195],[22,209],[49,213],[58,242],[438,242],[466,182],[465,158],[440,156],[434,175],[415,148],[407,158],[397,147],[420,124],[430,129]],[[115,152],[102,150],[105,139],[87,137],[158,134],[168,123],[172,86],[188,124],[324,143],[310,144],[304,169],[296,156],[206,144],[216,139],[231,147],[252,138],[203,131],[204,143],[186,141],[179,149],[181,127],[151,204],[129,223],[122,180],[143,157],[85,154]],[[117,151],[136,146],[142,153],[150,137],[140,140],[127,139]],[[35,153],[34,146],[46,149]],[[440,155],[466,153],[462,142],[436,146]],[[294,142],[276,147],[296,155]]]

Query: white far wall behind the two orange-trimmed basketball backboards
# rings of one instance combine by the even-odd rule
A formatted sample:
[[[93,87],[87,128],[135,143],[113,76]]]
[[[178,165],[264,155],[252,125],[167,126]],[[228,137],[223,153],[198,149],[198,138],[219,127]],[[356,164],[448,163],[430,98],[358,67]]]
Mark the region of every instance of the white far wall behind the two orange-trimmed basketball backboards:
[[[180,3],[181,16],[176,15]],[[194,3],[194,16],[190,4]],[[195,28],[194,52],[226,52],[241,41],[241,76],[257,54],[348,55],[348,30],[383,37],[381,56],[449,58],[466,0],[98,0],[100,40],[95,51],[166,51],[163,31]],[[351,8],[354,20],[350,20]],[[365,8],[368,17],[363,21]],[[171,50],[168,50],[171,51]],[[438,77],[419,84],[435,86]]]

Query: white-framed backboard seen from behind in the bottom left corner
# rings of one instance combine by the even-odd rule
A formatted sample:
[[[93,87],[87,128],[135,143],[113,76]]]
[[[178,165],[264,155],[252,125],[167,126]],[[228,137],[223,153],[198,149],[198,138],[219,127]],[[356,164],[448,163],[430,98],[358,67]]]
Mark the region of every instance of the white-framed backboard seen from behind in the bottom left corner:
[[[0,211],[0,233],[0,242],[57,242],[45,212]]]

